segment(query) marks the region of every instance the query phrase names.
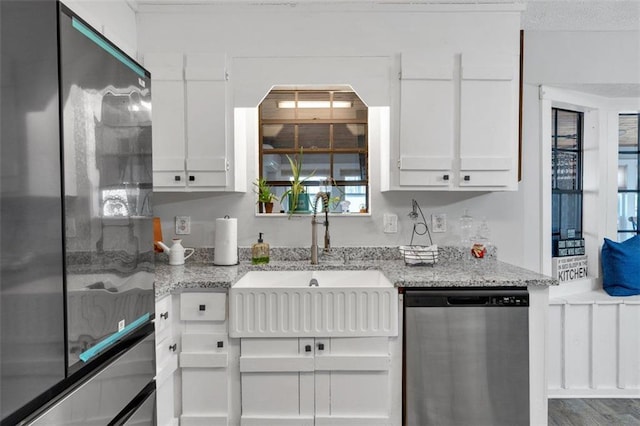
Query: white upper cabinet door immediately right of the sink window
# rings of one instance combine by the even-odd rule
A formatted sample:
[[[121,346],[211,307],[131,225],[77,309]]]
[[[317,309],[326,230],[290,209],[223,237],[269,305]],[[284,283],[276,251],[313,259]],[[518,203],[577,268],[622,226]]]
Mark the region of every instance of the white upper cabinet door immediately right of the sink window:
[[[402,54],[399,180],[446,189],[453,182],[453,55]]]

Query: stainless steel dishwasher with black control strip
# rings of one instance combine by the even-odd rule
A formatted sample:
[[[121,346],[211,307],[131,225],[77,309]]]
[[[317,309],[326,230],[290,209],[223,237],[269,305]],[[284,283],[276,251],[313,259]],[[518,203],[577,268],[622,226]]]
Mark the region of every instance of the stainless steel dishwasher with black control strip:
[[[529,294],[405,289],[406,426],[529,424]]]

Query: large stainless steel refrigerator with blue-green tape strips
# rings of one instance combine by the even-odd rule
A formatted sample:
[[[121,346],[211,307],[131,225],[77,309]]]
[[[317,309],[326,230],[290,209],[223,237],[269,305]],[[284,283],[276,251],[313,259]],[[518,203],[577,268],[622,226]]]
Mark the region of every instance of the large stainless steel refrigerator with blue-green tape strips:
[[[55,0],[0,20],[2,425],[153,424],[150,74]]]

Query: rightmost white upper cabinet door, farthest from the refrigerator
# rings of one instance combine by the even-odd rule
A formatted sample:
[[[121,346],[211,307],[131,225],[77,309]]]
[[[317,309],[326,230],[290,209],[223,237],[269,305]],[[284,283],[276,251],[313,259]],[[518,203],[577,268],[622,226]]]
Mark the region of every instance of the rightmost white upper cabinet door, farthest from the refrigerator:
[[[517,183],[518,82],[515,58],[462,55],[460,186]]]

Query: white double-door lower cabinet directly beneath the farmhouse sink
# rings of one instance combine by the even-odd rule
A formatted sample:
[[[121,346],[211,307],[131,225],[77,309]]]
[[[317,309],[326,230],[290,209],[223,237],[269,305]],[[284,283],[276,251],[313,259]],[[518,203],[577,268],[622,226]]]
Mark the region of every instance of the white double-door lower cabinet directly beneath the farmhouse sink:
[[[390,425],[389,337],[246,338],[241,424]]]

